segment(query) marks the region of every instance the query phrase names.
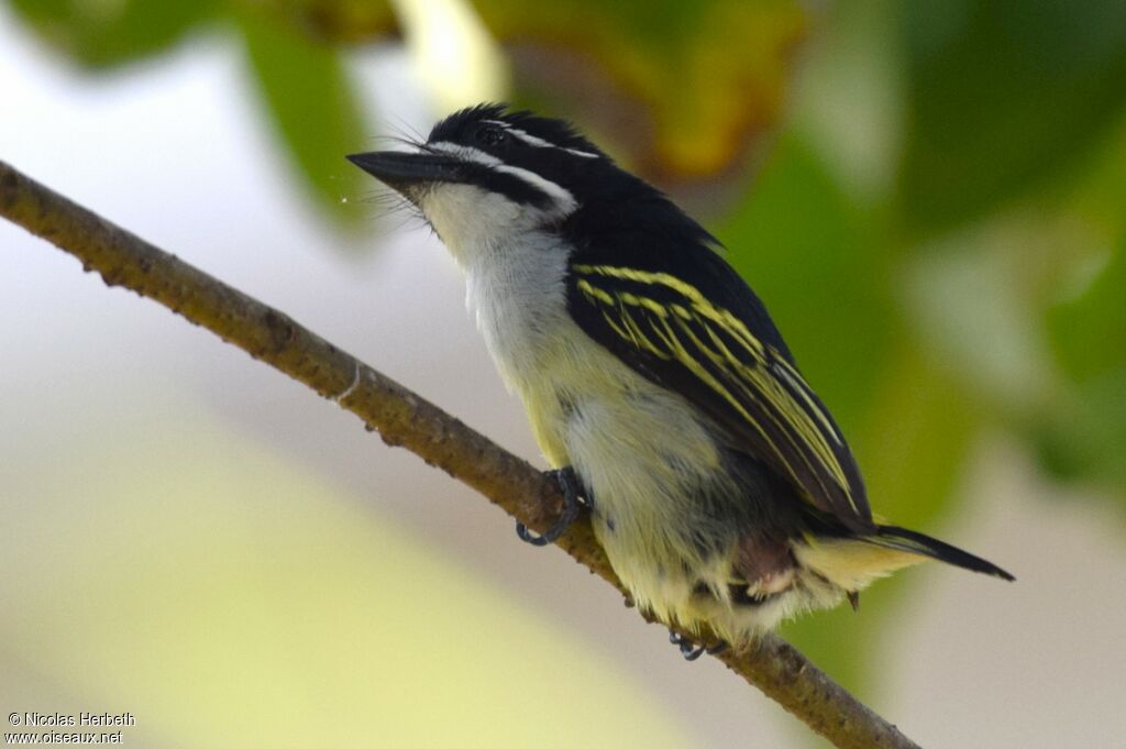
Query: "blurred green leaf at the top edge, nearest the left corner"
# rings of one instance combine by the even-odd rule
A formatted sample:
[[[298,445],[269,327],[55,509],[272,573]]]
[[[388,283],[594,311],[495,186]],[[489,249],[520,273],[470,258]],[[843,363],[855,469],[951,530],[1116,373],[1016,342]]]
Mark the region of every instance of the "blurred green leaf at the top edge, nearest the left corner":
[[[113,68],[166,52],[222,0],[10,0],[48,45],[92,69]]]

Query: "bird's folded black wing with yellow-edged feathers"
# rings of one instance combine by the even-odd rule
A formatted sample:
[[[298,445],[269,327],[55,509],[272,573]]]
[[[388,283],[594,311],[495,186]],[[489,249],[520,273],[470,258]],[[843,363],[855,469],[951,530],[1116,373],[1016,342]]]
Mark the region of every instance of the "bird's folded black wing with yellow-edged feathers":
[[[733,448],[777,471],[814,507],[870,532],[864,482],[837,423],[751,288],[700,250],[676,273],[577,258],[572,316],[640,374],[712,416]]]

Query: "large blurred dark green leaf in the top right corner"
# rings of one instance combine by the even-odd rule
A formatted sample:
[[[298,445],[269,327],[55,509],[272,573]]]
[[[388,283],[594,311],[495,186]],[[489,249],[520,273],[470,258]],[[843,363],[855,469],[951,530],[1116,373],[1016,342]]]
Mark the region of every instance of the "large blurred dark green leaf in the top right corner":
[[[1126,104],[1126,2],[903,6],[908,223],[977,217],[1087,152]]]

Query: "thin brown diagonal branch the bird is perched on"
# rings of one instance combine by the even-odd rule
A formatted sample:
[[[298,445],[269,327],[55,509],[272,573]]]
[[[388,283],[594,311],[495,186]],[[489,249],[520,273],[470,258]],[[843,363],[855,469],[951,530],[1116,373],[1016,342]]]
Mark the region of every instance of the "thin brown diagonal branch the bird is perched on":
[[[464,481],[543,532],[562,509],[553,482],[527,462],[385,377],[285,314],[231,288],[0,161],[0,215],[75,256],[109,286],[160,302],[189,322],[337,401],[388,445]],[[625,594],[590,524],[558,545]],[[652,619],[650,619],[652,621]],[[687,634],[687,633],[685,633]],[[838,747],[915,744],[783,640],[718,656],[727,667]]]

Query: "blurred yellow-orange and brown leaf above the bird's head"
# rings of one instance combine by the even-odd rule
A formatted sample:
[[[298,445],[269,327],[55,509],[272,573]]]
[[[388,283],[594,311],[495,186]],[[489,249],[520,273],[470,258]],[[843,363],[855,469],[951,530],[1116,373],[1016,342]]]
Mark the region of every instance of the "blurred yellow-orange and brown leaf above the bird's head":
[[[516,0],[491,0],[477,8],[503,41],[596,61],[642,116],[602,119],[605,102],[574,91],[580,110],[638,169],[664,180],[722,172],[776,122],[806,27],[801,5],[779,0],[582,0],[545,3],[536,12]],[[556,69],[553,77],[568,73]],[[534,96],[551,98],[553,80],[528,82],[546,89]],[[646,119],[651,128],[641,126]]]

